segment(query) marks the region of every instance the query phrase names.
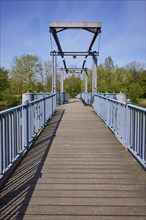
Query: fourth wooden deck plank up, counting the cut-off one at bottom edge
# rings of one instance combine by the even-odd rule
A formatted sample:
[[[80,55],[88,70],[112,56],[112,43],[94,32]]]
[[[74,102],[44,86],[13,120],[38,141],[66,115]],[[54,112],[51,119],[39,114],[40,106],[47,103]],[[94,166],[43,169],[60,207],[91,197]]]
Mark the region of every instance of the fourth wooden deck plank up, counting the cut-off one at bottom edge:
[[[24,195],[24,196],[23,196]],[[5,197],[5,199],[12,200],[12,197],[21,199],[21,197],[57,197],[57,198],[145,198],[143,190],[104,190],[104,191],[88,191],[88,190],[51,190],[51,189],[29,189],[23,191],[18,189],[17,191],[11,191]],[[2,201],[2,200],[1,200]]]

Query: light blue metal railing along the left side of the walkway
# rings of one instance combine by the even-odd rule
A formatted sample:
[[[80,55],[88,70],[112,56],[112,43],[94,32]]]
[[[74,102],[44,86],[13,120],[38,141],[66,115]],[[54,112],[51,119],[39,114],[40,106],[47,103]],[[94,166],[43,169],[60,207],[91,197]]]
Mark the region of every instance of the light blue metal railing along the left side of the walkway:
[[[56,110],[56,94],[0,112],[0,178],[26,152]]]

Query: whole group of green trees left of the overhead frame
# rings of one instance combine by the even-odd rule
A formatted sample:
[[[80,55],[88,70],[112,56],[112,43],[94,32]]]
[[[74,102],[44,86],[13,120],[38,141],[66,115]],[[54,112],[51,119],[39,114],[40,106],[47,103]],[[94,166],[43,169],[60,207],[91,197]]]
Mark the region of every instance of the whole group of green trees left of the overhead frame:
[[[47,77],[51,74],[50,62],[42,64],[35,55],[22,55],[13,60],[10,71],[0,68],[0,99],[5,105],[21,103],[25,92],[48,92]],[[52,86],[52,82],[49,86]]]

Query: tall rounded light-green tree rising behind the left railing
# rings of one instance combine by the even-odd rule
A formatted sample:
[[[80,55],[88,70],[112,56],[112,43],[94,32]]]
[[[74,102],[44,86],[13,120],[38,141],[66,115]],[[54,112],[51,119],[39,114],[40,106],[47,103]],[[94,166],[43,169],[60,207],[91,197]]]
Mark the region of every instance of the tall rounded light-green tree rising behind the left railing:
[[[14,59],[11,70],[11,87],[15,94],[35,92],[35,84],[42,83],[42,63],[38,56],[22,55]]]

